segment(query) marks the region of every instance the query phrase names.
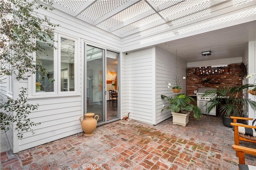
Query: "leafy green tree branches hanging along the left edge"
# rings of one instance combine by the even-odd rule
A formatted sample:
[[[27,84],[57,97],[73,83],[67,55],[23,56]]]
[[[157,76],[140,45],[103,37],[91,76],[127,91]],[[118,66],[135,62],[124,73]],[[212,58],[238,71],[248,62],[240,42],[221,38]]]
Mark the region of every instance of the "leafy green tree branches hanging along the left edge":
[[[52,35],[54,34],[54,25],[47,17],[41,18],[36,9],[44,8],[45,10],[53,10],[50,6],[51,2],[44,0],[46,5],[38,0],[1,0],[0,1],[0,18],[1,18],[1,67],[0,75],[16,75],[16,79],[26,80],[28,77],[36,73],[39,68],[47,75],[47,69],[44,66],[36,64],[33,61],[31,53],[40,51],[45,53],[44,49],[35,45],[32,38],[38,38],[42,42],[47,43],[50,47],[54,47],[46,37],[50,37],[55,42]],[[6,16],[12,16],[9,19]],[[56,47],[54,47],[56,49]],[[12,52],[10,52],[12,51]],[[12,66],[11,68],[9,66]],[[51,80],[54,81],[54,80]],[[26,89],[22,89],[18,95],[18,99],[8,99],[1,101],[1,129],[7,131],[10,122],[16,123],[18,138],[22,138],[23,131],[33,133],[32,126],[34,123],[28,119],[31,110],[38,109],[38,105],[27,103],[24,95]],[[13,114],[15,112],[16,114]]]

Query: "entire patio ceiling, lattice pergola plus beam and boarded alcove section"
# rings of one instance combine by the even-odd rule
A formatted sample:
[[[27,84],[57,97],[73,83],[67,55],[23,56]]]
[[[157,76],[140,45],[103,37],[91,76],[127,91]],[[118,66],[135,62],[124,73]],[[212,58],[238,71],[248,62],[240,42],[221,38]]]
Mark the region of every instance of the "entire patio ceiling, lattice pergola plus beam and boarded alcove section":
[[[214,17],[218,18],[209,21],[211,27],[225,24],[230,20],[242,20],[246,16],[255,17],[254,0],[52,0],[51,2],[57,10],[120,37],[124,45],[123,52],[156,45],[172,55],[176,55],[177,50],[178,57],[187,62],[196,62],[241,57],[247,42],[256,41],[255,22],[216,29],[203,34],[197,33],[197,35],[188,33],[196,32],[193,29],[209,28],[209,25],[203,24]],[[228,14],[233,10],[238,10],[238,13]],[[222,15],[226,16],[221,17]],[[196,25],[200,25],[201,28],[195,28]],[[132,41],[127,42],[129,39]],[[212,51],[212,55],[202,57],[202,51],[208,50]]]

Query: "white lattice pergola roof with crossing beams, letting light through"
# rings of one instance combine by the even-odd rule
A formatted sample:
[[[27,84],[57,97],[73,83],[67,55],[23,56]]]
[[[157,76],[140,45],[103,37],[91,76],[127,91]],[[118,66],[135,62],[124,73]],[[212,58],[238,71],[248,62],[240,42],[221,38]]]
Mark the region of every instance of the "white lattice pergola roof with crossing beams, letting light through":
[[[243,4],[252,0],[234,0]],[[114,35],[159,32],[211,14],[225,0],[52,0],[53,7]]]

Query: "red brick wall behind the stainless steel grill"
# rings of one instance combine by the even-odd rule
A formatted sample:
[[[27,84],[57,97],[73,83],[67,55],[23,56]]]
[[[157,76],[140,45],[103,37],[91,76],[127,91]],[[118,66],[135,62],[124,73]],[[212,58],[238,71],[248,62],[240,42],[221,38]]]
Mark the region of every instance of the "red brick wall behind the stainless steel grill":
[[[229,71],[224,72],[226,67],[215,67],[209,70],[203,67],[189,67],[186,69],[187,95],[193,95],[194,90],[200,87],[218,88],[222,86],[242,86],[240,75],[240,63],[230,64]],[[207,74],[206,74],[207,70]],[[203,73],[204,71],[204,73]],[[200,73],[198,73],[200,72]],[[212,73],[214,72],[214,73]]]

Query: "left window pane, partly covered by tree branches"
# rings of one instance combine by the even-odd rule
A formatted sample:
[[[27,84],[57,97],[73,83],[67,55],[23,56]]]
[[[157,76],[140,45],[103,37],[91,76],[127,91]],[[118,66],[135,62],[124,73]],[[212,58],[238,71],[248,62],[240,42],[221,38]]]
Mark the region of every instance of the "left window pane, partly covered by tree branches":
[[[48,43],[53,45],[53,41],[48,39]],[[53,47],[46,42],[36,40],[36,45],[41,47],[42,51],[36,52],[36,64],[39,63],[47,69],[48,74],[45,75],[41,71],[36,72],[36,93],[53,92],[54,91],[54,56]]]

